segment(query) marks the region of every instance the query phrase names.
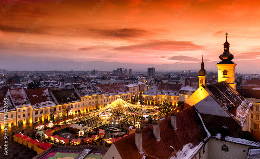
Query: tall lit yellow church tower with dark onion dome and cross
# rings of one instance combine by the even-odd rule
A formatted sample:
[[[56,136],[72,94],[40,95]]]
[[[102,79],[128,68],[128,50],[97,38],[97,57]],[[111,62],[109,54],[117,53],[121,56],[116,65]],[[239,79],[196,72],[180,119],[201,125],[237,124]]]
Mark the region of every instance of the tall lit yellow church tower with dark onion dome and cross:
[[[226,33],[226,35],[228,34]],[[229,43],[227,38],[228,36],[226,36],[226,42],[224,43],[224,52],[219,56],[222,61],[216,64],[218,67],[218,82],[226,81],[233,89],[236,89],[235,67],[237,64],[231,61],[234,56],[229,52]]]

